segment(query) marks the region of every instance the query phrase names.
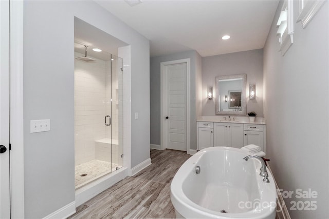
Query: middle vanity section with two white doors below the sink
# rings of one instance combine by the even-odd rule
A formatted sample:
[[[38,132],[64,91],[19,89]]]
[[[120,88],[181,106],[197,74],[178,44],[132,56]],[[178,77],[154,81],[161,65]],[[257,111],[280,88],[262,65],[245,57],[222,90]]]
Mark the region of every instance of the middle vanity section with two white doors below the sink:
[[[214,123],[214,146],[242,148],[244,126],[239,123]]]

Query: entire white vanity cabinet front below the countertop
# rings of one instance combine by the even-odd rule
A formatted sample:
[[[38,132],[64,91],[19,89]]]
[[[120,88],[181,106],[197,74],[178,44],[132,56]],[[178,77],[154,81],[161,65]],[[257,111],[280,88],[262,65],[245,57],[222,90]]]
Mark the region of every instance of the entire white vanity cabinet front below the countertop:
[[[218,146],[242,148],[245,145],[258,145],[265,152],[266,125],[197,122],[197,150]]]

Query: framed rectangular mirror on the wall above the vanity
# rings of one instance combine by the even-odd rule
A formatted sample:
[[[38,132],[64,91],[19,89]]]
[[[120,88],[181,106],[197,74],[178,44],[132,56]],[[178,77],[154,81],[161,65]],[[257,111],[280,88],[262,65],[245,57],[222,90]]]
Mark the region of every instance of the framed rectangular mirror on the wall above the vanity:
[[[246,115],[246,74],[215,77],[217,115]]]

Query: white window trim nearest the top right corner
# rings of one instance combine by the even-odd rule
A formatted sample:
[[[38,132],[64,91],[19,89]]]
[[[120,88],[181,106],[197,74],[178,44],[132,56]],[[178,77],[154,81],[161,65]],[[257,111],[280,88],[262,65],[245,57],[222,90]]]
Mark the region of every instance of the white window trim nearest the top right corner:
[[[314,15],[319,11],[324,0],[317,1],[305,1],[306,5],[302,7],[303,1],[299,0],[299,16],[297,22],[302,23],[302,27],[305,28],[309,21],[314,17]]]

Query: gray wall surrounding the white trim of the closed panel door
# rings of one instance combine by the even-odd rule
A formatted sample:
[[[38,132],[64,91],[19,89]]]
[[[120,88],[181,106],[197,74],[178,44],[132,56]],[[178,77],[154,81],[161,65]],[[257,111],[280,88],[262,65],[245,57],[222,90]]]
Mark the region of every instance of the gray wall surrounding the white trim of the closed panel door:
[[[199,54],[195,51],[187,51],[181,53],[175,53],[170,55],[163,55],[150,58],[150,106],[151,106],[151,144],[160,145],[160,63],[174,61],[183,58],[191,59],[191,137],[190,148],[196,149],[196,102],[195,102],[195,74],[196,74],[196,59],[199,61]],[[200,67],[198,62],[198,67]]]

